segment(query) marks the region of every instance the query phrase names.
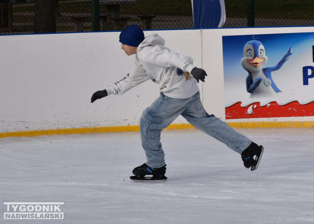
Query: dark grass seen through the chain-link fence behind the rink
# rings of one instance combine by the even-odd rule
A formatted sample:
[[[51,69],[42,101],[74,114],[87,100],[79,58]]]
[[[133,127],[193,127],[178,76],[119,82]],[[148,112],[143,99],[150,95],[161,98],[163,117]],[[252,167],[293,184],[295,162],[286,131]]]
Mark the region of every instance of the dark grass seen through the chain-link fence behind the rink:
[[[62,13],[91,13],[90,1],[61,1]],[[247,0],[225,0],[226,16],[229,18],[247,18]],[[306,19],[313,20],[314,1],[304,0],[259,0],[255,1],[255,18]],[[14,3],[13,11],[34,12],[32,3]],[[106,6],[100,5],[100,13],[106,13]],[[120,14],[156,14],[192,16],[191,0],[137,0],[136,4],[120,6]]]

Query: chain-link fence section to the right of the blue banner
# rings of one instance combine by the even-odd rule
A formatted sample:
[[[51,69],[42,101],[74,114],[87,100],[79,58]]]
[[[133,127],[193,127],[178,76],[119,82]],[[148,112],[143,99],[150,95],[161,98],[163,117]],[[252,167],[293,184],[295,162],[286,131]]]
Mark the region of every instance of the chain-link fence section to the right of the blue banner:
[[[224,27],[312,26],[313,0],[225,0]]]

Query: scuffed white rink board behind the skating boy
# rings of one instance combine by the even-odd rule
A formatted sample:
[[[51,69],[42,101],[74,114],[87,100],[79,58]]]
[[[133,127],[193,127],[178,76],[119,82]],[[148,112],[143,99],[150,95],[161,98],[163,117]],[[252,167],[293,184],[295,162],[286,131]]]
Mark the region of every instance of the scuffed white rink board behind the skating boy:
[[[313,27],[149,30],[165,46],[190,55],[208,76],[200,83],[204,107],[225,120],[222,36],[311,32]],[[120,32],[0,36],[0,133],[62,128],[138,125],[159,95],[147,81],[122,96],[90,103],[91,95],[122,79],[134,56],[125,55]],[[284,117],[277,121],[314,120]],[[232,121],[232,120],[228,120]],[[246,121],[246,120],[237,120]],[[271,121],[269,118],[250,121]],[[174,123],[186,123],[179,117]]]

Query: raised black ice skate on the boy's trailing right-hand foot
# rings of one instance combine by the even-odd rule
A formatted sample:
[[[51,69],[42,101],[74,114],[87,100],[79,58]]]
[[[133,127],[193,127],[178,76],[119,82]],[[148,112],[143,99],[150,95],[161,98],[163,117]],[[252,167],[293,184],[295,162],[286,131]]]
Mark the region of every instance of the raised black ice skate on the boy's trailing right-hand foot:
[[[252,142],[241,154],[244,166],[256,170],[263,155],[264,147]]]

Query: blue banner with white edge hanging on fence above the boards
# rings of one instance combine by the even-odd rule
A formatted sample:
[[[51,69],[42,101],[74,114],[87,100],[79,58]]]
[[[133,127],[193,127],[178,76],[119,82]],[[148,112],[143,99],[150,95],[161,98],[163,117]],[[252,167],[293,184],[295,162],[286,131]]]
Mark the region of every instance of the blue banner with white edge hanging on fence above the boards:
[[[225,24],[224,0],[192,0],[194,28],[222,27]]]

